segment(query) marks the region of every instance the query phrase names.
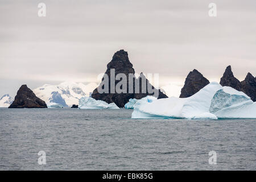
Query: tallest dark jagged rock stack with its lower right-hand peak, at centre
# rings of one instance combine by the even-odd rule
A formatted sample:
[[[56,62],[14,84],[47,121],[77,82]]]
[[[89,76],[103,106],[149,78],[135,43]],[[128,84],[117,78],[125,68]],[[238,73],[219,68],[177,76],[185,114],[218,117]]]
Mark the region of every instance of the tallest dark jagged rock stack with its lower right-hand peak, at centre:
[[[114,69],[115,74],[114,76],[116,76],[118,73],[123,73],[126,78],[127,78],[127,89],[126,89],[126,93],[117,93],[116,90],[114,90],[114,92],[110,92],[110,69]],[[118,107],[124,107],[125,104],[129,101],[130,98],[137,98],[137,99],[141,99],[143,97],[146,97],[148,95],[153,95],[154,93],[150,93],[148,92],[148,89],[146,90],[142,90],[142,82],[139,83],[139,93],[135,93],[135,81],[142,80],[144,78],[144,75],[141,74],[141,76],[137,79],[134,77],[134,69],[133,69],[133,64],[130,63],[129,61],[129,57],[128,57],[128,53],[124,50],[120,50],[115,52],[112,61],[110,61],[107,65],[107,70],[105,72],[106,75],[108,75],[109,80],[108,80],[108,92],[106,93],[99,93],[98,92],[98,88],[104,88],[105,85],[102,84],[104,82],[104,78],[102,78],[102,82],[100,84],[100,86],[98,86],[98,88],[93,90],[92,93],[92,98],[94,98],[95,100],[102,100],[105,101],[107,103],[112,103],[114,102]],[[129,74],[132,75],[133,77],[129,79]],[[129,92],[129,80],[133,79],[133,92]],[[118,84],[118,82],[121,80],[115,80],[115,82],[113,83],[114,87]],[[152,86],[148,80],[146,81],[148,86]],[[155,89],[154,87],[152,87],[152,89]],[[156,90],[156,89],[155,89]],[[143,93],[144,92],[144,93]],[[160,92],[159,90],[159,96],[158,98],[167,98],[167,96]]]

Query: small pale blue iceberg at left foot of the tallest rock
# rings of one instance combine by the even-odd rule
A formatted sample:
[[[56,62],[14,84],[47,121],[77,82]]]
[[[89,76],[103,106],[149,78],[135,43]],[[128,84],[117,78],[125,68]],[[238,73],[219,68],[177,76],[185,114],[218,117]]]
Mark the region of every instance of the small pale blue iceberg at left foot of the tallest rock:
[[[119,107],[114,103],[108,104],[92,97],[82,97],[79,100],[79,109],[119,109]]]

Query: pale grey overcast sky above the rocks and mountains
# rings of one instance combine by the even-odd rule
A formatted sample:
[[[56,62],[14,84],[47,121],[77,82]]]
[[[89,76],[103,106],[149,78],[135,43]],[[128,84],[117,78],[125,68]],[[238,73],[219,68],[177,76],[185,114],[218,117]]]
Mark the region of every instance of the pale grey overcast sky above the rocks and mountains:
[[[183,84],[194,68],[210,81],[227,65],[241,81],[256,76],[255,0],[0,0],[0,25],[0,97],[21,84],[97,82],[119,49],[135,72],[159,73],[160,86]]]

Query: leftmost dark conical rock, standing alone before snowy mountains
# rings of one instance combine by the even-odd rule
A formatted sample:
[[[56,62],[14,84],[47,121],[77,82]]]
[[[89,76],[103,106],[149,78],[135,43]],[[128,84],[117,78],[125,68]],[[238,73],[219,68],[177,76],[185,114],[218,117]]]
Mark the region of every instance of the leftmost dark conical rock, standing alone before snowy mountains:
[[[36,97],[27,85],[22,85],[9,108],[47,108],[47,105],[46,102]]]

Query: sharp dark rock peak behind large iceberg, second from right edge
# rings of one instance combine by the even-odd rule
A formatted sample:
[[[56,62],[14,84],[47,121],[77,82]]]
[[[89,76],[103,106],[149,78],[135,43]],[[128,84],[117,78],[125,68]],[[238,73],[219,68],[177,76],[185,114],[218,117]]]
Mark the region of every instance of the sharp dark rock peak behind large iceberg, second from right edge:
[[[226,70],[221,78],[220,84],[221,86],[230,86],[238,91],[241,90],[241,82],[236,77],[234,77],[230,65],[226,67]]]

